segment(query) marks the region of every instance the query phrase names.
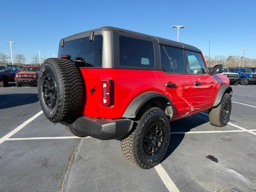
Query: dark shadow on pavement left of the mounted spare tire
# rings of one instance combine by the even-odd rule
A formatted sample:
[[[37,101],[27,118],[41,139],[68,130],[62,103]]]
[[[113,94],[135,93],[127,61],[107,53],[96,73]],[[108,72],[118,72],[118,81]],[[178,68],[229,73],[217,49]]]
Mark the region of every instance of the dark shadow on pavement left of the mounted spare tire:
[[[0,94],[0,109],[38,102],[38,94]]]

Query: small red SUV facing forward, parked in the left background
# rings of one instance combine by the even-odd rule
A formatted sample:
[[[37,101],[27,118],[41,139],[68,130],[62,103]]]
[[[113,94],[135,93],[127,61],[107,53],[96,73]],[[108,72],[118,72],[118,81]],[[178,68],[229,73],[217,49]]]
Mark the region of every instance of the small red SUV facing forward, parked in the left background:
[[[17,87],[22,85],[37,85],[38,73],[40,67],[37,65],[29,65],[23,67],[21,72],[16,73],[15,83]]]

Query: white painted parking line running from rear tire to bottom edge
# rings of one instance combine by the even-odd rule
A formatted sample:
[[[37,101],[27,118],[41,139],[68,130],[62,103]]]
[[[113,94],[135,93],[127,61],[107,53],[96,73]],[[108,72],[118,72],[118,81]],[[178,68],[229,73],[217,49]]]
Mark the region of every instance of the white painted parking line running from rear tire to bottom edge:
[[[170,192],[180,192],[180,190],[178,190],[178,188],[176,187],[174,182],[171,180],[169,175],[166,173],[166,171],[164,170],[164,168],[162,167],[161,164],[158,164],[154,168],[156,169],[156,172],[158,173],[158,175],[160,176],[160,178],[164,182],[164,185],[166,186],[168,191],[170,191]]]

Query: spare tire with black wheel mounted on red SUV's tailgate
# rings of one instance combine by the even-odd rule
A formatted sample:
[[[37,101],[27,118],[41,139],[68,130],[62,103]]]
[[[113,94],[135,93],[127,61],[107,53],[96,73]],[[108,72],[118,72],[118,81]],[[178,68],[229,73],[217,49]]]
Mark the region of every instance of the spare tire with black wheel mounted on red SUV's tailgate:
[[[82,106],[78,68],[64,58],[48,58],[38,76],[38,98],[45,116],[58,123],[74,119]]]

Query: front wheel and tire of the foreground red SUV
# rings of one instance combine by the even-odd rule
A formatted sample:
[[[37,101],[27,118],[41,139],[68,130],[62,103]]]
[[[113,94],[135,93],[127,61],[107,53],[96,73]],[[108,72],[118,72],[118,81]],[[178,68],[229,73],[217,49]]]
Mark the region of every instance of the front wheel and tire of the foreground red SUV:
[[[209,119],[210,124],[223,127],[228,124],[232,108],[230,94],[224,94],[221,103],[210,110]]]

